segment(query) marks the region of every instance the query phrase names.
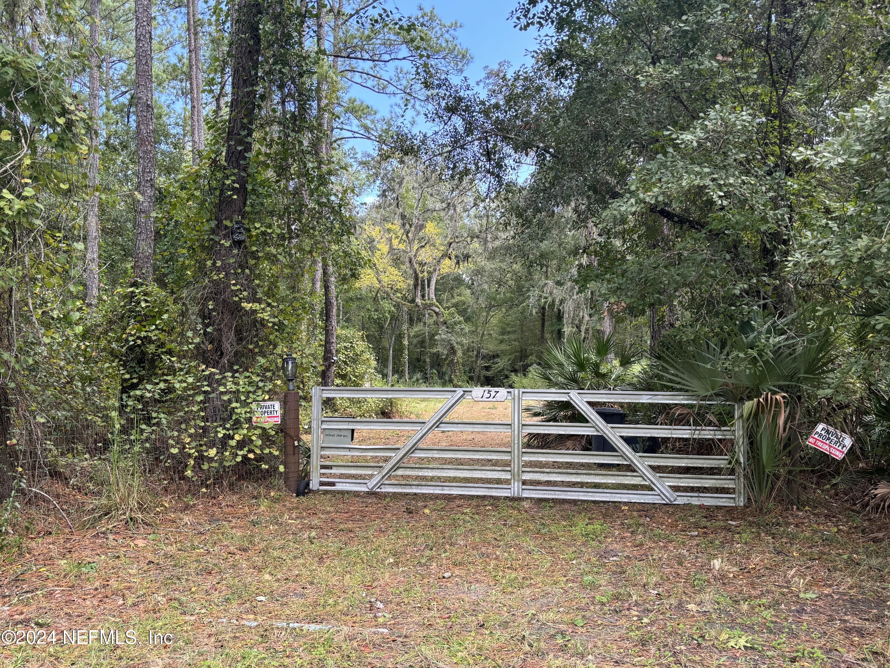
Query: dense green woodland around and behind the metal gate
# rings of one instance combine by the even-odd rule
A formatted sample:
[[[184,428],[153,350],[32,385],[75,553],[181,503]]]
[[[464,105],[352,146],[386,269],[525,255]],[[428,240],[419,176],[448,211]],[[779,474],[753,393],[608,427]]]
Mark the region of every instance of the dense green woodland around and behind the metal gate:
[[[659,359],[706,343],[747,337],[705,363],[731,369],[829,337],[794,425],[854,451],[794,468],[886,474],[885,4],[525,0],[512,19],[538,31],[530,62],[473,82],[457,24],[423,7],[5,3],[7,511],[121,452],[199,483],[278,469],[249,414],[285,352],[303,396],[533,387],[548,346],[609,335],[659,388]]]

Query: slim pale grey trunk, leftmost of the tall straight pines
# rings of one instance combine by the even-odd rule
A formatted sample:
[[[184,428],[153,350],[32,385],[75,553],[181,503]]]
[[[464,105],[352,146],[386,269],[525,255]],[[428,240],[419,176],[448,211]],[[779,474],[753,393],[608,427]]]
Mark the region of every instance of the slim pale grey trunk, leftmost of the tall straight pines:
[[[99,297],[99,0],[90,0],[90,91],[89,107],[93,117],[90,130],[90,158],[86,166],[86,305],[90,311]]]

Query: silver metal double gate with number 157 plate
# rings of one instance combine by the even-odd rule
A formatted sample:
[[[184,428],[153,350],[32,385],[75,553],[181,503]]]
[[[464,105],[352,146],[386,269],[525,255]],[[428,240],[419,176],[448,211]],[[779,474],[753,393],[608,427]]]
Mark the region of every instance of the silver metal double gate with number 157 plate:
[[[474,396],[475,395],[475,396]],[[429,420],[368,420],[322,417],[322,402],[344,399],[444,399]],[[510,401],[510,421],[446,420],[465,399]],[[569,402],[587,424],[525,421],[523,403]],[[588,403],[659,403],[683,406],[701,402],[675,392],[599,392],[566,390],[505,390],[491,388],[314,387],[312,388],[312,459],[310,487],[352,492],[412,492],[480,494],[523,499],[702,503],[742,506],[744,428],[740,405],[734,406],[733,427],[689,425],[607,424]],[[709,403],[716,408],[716,403]],[[724,404],[725,405],[725,404]],[[729,404],[732,411],[732,404]],[[682,408],[685,416],[692,411]],[[726,411],[726,409],[723,409]],[[719,412],[719,411],[718,411]],[[713,412],[708,419],[715,423]],[[725,422],[727,420],[724,418]],[[414,432],[404,444],[352,444],[352,430]],[[337,430],[337,431],[333,431]],[[344,431],[345,430],[345,431]],[[425,444],[433,432],[481,432],[489,444],[453,447]],[[347,436],[343,436],[346,434]],[[603,436],[602,448],[612,452],[533,449],[523,436],[532,434]],[[340,438],[336,438],[339,435]],[[380,433],[377,432],[380,436]],[[499,436],[496,436],[499,435]],[[509,435],[507,442],[506,435]],[[446,436],[441,436],[446,438]],[[635,452],[640,438],[687,439],[719,444],[719,454]],[[691,439],[691,440],[690,440]],[[393,437],[392,440],[402,440]],[[492,441],[501,443],[491,443]],[[591,439],[593,440],[593,438]],[[637,448],[638,449],[638,448]],[[701,447],[693,450],[700,450]],[[418,461],[432,463],[417,463]],[[465,466],[456,460],[485,465]],[[584,468],[578,468],[578,465]],[[623,468],[623,470],[621,470]],[[667,469],[667,470],[666,470]],[[400,479],[393,479],[400,478]],[[434,478],[434,479],[431,479]],[[457,482],[448,482],[449,480]]]

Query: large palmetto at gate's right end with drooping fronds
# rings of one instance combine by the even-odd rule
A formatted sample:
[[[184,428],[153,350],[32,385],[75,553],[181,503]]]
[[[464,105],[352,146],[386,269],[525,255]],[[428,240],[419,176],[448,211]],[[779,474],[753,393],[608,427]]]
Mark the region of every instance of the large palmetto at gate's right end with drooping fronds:
[[[744,323],[722,339],[665,346],[656,371],[663,381],[703,400],[742,403],[748,425],[747,485],[766,506],[789,492],[799,441],[792,432],[800,398],[830,371],[829,330],[789,331],[790,319]]]

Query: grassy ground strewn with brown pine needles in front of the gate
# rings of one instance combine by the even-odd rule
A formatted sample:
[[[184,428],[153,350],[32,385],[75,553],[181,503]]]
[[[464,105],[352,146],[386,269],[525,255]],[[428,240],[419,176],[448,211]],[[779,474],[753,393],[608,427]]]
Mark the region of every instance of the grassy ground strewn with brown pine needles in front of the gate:
[[[0,576],[9,628],[133,629],[142,645],[7,647],[3,664],[829,666],[890,656],[890,550],[830,506],[750,517],[271,489],[167,502],[151,534],[36,535]],[[835,540],[818,538],[826,533]],[[173,642],[149,645],[150,631]]]

